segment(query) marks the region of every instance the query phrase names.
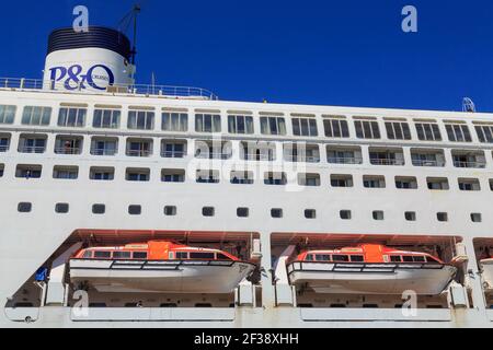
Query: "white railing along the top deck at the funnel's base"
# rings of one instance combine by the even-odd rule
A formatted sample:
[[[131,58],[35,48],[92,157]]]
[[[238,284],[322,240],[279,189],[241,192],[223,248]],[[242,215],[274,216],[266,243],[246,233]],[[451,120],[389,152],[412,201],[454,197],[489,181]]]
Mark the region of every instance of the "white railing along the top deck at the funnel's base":
[[[25,78],[0,78],[0,89],[9,90],[46,90],[64,92],[88,92],[94,93],[98,90],[84,82],[72,83],[68,90],[65,82],[41,79]],[[131,95],[152,95],[152,96],[172,96],[172,97],[195,97],[204,100],[219,100],[217,95],[206,89],[193,86],[173,86],[173,85],[147,85],[147,84],[113,84],[101,93],[122,93]]]

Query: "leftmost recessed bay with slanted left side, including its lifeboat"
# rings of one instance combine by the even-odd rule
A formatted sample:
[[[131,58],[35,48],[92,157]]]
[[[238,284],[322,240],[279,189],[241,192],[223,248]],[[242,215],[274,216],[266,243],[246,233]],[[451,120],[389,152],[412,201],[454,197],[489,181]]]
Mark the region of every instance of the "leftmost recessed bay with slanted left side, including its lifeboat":
[[[77,230],[5,308],[73,306],[78,292],[89,307],[234,307],[240,290],[254,306],[257,243],[252,232]]]

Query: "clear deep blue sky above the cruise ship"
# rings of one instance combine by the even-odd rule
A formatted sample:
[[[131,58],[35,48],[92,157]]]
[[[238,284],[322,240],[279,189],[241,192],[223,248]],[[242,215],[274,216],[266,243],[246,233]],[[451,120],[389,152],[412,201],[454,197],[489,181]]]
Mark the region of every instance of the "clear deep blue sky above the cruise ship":
[[[1,77],[41,78],[49,32],[115,26],[135,0],[4,1]],[[139,83],[207,88],[221,100],[493,112],[493,2],[142,0]],[[419,33],[401,31],[401,9]]]

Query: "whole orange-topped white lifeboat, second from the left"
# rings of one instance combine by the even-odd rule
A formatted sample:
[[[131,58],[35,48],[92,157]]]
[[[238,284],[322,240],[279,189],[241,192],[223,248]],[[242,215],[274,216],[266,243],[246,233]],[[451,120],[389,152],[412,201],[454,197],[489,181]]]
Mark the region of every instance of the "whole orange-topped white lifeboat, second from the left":
[[[287,264],[289,281],[316,293],[402,294],[442,293],[457,268],[426,253],[365,244],[333,250],[301,253]]]

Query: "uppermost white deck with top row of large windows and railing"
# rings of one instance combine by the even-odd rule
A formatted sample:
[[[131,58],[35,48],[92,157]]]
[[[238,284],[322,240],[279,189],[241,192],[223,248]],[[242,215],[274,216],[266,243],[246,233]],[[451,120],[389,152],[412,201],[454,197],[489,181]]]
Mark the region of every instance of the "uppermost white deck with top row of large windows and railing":
[[[106,92],[77,89],[67,92],[50,82],[25,79],[0,79],[0,104],[14,108],[13,116],[0,118],[0,127],[21,131],[34,127],[57,132],[104,130],[110,135],[493,148],[493,114],[485,113],[227,102],[208,90],[180,86],[112,86]],[[26,121],[23,118],[26,106],[49,107],[55,117],[47,122]],[[60,110],[70,107],[85,109],[82,122],[60,122]],[[94,110],[101,108],[118,110],[117,122],[95,125]],[[151,122],[131,125],[128,118],[131,110],[149,113]],[[186,125],[177,128],[167,125],[164,114],[186,115]]]

